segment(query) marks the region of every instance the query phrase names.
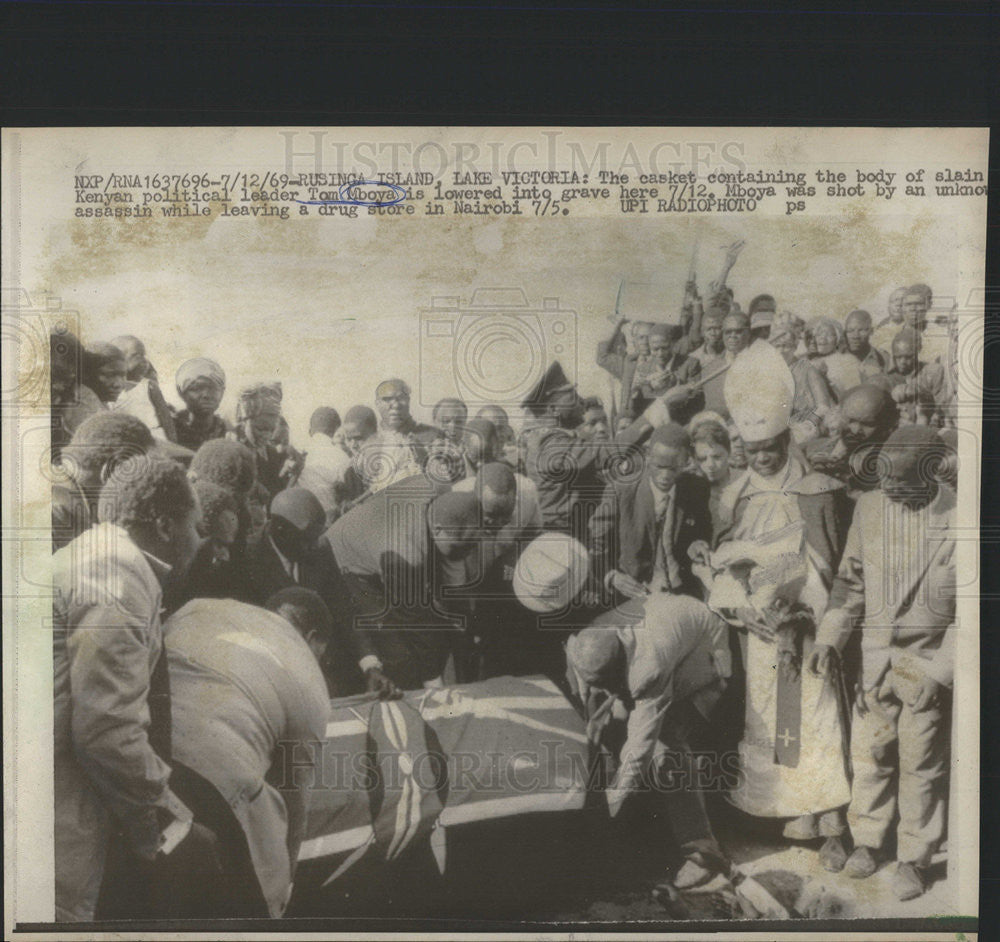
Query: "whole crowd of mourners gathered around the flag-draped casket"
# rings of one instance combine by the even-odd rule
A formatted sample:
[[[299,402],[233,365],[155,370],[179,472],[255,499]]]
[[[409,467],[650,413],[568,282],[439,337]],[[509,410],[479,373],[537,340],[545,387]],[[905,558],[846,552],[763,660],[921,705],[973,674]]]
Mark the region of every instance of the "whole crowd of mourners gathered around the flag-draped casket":
[[[423,424],[387,378],[293,445],[279,382],[219,415],[224,355],[177,367],[176,409],[139,338],[53,333],[57,918],[281,915],[309,793],[275,787],[279,745],[322,740],[331,699],[505,675],[611,744],[611,816],[655,796],[674,887],[731,872],[715,799],[657,788],[697,753],[823,867],[924,893],[955,318],[923,284],[874,314],[743,308],[737,251],[672,323],[617,319],[613,399],[553,363],[513,425],[455,398]]]

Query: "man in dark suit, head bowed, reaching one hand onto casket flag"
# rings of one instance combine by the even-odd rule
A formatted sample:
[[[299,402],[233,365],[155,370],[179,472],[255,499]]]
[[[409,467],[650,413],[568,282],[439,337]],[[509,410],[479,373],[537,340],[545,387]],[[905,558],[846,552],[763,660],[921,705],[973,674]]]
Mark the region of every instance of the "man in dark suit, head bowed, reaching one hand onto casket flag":
[[[248,553],[242,600],[264,605],[280,589],[302,586],[318,593],[333,616],[333,638],[322,662],[333,696],[347,696],[367,687],[392,693],[380,671],[365,673],[361,659],[370,654],[354,631],[354,612],[330,544],[323,539],[326,514],[316,496],[304,487],[279,491],[271,501],[271,518],[264,534]]]

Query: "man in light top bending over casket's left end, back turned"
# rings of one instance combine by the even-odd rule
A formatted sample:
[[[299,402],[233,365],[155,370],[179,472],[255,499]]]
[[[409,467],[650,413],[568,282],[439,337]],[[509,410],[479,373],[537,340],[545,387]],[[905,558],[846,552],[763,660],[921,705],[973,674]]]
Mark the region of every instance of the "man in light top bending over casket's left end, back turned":
[[[164,625],[175,787],[219,838],[218,917],[281,916],[330,712],[323,600],[282,589],[265,611],[194,599]]]

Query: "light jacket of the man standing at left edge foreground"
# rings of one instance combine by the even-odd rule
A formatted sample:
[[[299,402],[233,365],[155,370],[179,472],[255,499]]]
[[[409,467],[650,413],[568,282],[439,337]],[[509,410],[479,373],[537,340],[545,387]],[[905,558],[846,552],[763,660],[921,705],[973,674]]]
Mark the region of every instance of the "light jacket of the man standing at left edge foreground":
[[[57,920],[94,918],[116,825],[152,860],[162,812],[191,818],[167,784],[165,671],[154,689],[164,566],[108,523],[52,559]]]

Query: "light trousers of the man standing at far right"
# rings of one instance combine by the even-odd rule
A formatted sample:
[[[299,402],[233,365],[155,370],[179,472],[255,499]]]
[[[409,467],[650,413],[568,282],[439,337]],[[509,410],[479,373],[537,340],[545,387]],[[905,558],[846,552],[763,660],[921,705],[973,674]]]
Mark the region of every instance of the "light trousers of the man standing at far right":
[[[926,866],[944,836],[950,704],[914,713],[922,677],[891,667],[855,711],[854,783],[847,821],[854,843],[881,848],[898,811],[896,858]]]

